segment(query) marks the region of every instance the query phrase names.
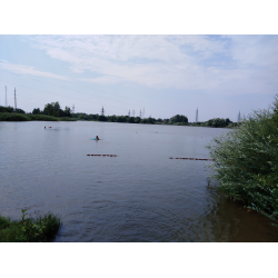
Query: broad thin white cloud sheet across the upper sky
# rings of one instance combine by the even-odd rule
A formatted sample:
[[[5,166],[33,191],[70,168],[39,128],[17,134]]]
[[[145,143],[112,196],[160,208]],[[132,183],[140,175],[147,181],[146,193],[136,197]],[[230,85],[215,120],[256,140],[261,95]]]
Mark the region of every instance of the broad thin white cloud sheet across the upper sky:
[[[30,38],[34,47],[67,62],[73,72],[80,75],[79,80],[88,82],[131,81],[152,88],[240,93],[244,89],[258,92],[258,88],[274,81],[277,73],[277,36]],[[82,78],[83,72],[101,77]],[[268,93],[272,92],[274,87]]]

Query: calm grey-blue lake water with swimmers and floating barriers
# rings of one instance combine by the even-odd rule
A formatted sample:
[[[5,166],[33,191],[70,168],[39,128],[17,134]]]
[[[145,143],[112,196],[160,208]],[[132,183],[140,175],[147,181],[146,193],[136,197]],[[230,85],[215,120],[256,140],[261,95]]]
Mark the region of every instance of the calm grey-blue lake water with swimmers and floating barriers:
[[[57,242],[278,241],[268,219],[207,188],[210,161],[169,159],[209,158],[205,146],[228,131],[0,122],[0,215],[58,214]]]

